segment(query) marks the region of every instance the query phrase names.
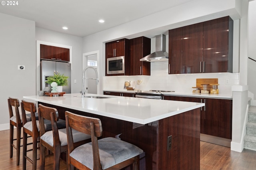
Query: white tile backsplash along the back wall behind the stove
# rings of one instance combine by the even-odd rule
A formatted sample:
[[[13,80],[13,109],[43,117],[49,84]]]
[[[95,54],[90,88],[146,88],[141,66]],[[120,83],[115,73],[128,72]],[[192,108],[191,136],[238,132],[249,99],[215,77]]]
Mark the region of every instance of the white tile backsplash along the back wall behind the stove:
[[[131,87],[141,90],[165,90],[178,93],[192,93],[196,79],[218,78],[220,94],[232,94],[232,85],[239,84],[239,73],[197,73],[168,75],[168,61],[151,63],[151,75],[104,76],[103,90],[123,90],[124,82],[131,81]],[[136,85],[137,80],[142,80]]]

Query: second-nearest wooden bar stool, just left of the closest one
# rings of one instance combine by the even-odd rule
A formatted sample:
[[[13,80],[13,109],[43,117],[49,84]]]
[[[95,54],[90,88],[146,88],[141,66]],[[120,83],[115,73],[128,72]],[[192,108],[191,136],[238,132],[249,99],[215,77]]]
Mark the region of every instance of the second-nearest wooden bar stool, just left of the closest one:
[[[38,105],[39,125],[40,125],[40,170],[44,170],[45,165],[45,148],[54,154],[53,168],[59,170],[60,168],[60,153],[68,151],[68,140],[66,128],[58,129],[57,121],[58,111],[52,107],[46,107],[42,104]],[[52,130],[45,130],[44,119],[51,121]],[[81,145],[90,142],[90,135],[73,131],[73,138],[76,145]],[[66,154],[68,157],[68,154]],[[67,162],[68,164],[68,162]]]

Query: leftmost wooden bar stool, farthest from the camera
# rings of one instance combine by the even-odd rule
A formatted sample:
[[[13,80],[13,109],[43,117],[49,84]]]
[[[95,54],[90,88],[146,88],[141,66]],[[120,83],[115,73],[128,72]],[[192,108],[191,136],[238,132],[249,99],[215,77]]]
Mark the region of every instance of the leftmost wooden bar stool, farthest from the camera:
[[[20,137],[21,134],[21,128],[22,128],[22,116],[19,112],[20,102],[19,99],[14,99],[9,97],[8,98],[8,108],[9,108],[9,114],[10,114],[10,158],[13,156],[13,148],[16,149],[16,165],[20,165],[20,140],[22,139]],[[15,115],[13,115],[15,110]],[[26,114],[26,121],[31,121],[31,115]],[[14,138],[14,126],[17,128],[17,136]],[[13,144],[13,141],[16,140],[16,145]]]

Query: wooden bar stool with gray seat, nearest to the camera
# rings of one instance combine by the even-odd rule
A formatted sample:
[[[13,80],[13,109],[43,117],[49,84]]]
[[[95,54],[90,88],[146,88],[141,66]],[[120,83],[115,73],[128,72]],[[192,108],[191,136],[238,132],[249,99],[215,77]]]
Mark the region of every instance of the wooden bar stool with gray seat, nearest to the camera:
[[[140,168],[139,155],[143,152],[142,149],[113,137],[98,140],[98,137],[102,136],[100,119],[76,115],[68,111],[65,115],[69,170],[73,169],[73,166],[79,170],[119,170],[131,164],[133,170]],[[92,142],[74,146],[72,138],[74,130],[91,135]]]

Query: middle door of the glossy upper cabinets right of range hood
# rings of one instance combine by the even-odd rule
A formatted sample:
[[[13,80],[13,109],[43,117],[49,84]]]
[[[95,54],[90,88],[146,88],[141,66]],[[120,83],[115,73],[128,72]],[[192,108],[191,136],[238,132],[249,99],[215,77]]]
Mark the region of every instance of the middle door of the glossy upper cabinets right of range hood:
[[[182,73],[201,73],[203,23],[182,28]]]

